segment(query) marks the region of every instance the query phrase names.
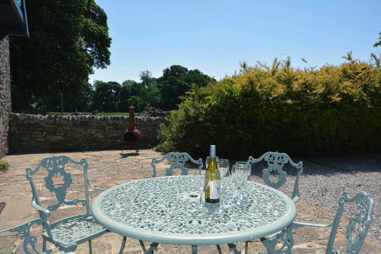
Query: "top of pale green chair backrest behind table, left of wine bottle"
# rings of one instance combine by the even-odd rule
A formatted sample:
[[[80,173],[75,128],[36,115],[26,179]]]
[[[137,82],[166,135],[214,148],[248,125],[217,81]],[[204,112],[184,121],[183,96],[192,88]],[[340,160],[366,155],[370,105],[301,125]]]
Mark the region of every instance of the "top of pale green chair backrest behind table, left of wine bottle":
[[[154,174],[152,175],[152,177],[156,177],[156,164],[159,162],[162,162],[163,160],[169,161],[169,163],[171,165],[169,168],[165,169],[165,171],[166,171],[165,176],[172,176],[174,168],[181,169],[181,175],[187,176],[188,175],[188,169],[185,168],[184,165],[185,165],[186,161],[188,161],[188,160],[199,165],[199,169],[202,169],[202,167],[204,166],[201,158],[197,161],[193,160],[191,155],[189,155],[187,153],[179,153],[179,152],[167,153],[160,160],[158,160],[157,158],[152,158],[151,166],[154,169]]]

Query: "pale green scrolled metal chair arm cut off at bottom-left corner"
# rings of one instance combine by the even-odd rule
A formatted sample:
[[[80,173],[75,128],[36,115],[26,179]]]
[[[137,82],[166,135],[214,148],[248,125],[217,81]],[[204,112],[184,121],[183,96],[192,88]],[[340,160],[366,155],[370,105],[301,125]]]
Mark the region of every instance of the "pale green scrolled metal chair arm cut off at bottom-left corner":
[[[21,224],[21,225],[18,225],[16,227],[8,228],[5,230],[0,230],[0,233],[2,233],[2,232],[17,232],[19,234],[24,233],[23,235],[20,235],[20,238],[24,239],[24,243],[22,244],[22,247],[24,249],[24,252],[27,254],[31,254],[29,252],[28,245],[30,245],[30,247],[33,249],[34,253],[38,253],[38,254],[50,254],[50,253],[52,253],[53,252],[52,249],[47,249],[46,251],[40,252],[34,246],[34,244],[37,243],[37,237],[30,235],[30,228],[34,224],[42,225],[43,221],[42,221],[42,219],[29,220],[28,222]],[[65,253],[75,254],[74,252],[63,252],[63,251],[58,252],[58,254],[65,254]]]

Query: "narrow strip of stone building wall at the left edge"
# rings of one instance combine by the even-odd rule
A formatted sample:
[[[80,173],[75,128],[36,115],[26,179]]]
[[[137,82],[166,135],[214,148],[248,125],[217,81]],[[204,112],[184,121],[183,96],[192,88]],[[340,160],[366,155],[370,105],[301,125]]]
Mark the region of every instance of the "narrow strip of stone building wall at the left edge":
[[[11,73],[8,37],[0,40],[0,153],[4,157],[9,147],[9,113],[11,112]]]

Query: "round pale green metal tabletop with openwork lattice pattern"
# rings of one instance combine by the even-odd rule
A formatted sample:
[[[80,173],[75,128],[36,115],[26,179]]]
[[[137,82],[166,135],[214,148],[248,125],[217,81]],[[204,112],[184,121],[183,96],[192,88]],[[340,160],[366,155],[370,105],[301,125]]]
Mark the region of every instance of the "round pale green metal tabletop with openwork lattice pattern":
[[[296,217],[296,206],[282,192],[245,182],[248,204],[232,204],[237,187],[224,195],[227,213],[194,209],[200,193],[192,176],[166,176],[128,182],[97,196],[91,213],[103,227],[127,237],[163,244],[235,243],[279,232]]]

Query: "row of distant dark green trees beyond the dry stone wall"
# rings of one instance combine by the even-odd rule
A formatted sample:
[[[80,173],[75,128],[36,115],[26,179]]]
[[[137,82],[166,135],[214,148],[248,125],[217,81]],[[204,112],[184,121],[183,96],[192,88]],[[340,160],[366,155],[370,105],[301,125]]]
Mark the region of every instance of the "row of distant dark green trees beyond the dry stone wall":
[[[86,83],[77,101],[68,101],[64,94],[64,111],[74,112],[77,109],[80,112],[128,112],[131,105],[137,107],[138,112],[152,107],[178,109],[177,105],[182,101],[182,96],[191,90],[192,85],[206,86],[213,80],[200,70],[188,70],[181,65],[172,65],[164,69],[159,78],[152,77],[148,70],[140,72],[139,77],[140,82],[125,80],[119,84],[115,81],[95,80],[93,84]],[[45,103],[40,101],[39,105],[40,108],[34,111],[59,112],[61,95],[46,97]],[[17,108],[15,110],[25,111]]]

